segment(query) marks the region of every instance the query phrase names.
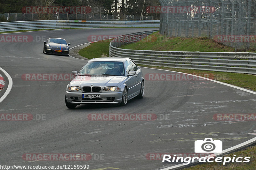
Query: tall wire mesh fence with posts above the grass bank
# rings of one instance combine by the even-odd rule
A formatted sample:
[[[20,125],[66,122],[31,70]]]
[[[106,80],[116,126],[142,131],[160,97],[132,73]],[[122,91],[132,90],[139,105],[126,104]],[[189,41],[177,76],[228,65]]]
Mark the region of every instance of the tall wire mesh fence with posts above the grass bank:
[[[159,0],[160,33],[256,48],[256,0]]]

